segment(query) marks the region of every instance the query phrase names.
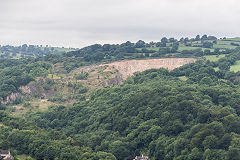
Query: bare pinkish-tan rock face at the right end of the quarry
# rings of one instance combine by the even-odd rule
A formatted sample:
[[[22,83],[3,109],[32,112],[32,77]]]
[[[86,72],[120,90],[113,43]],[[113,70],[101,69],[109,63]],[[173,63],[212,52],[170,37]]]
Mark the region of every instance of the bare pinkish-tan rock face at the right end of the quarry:
[[[162,58],[162,59],[147,59],[147,60],[123,60],[105,64],[106,66],[113,67],[122,74],[122,78],[126,79],[128,76],[133,75],[134,72],[142,72],[147,69],[166,68],[173,70],[188,63],[195,62],[194,58]],[[102,66],[105,66],[102,65]],[[109,70],[107,68],[106,70]]]

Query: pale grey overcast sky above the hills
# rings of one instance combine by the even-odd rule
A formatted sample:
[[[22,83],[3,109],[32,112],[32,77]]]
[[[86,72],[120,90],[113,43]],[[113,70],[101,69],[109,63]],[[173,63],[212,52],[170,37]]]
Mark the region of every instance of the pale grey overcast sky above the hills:
[[[0,0],[0,45],[240,37],[239,0]]]

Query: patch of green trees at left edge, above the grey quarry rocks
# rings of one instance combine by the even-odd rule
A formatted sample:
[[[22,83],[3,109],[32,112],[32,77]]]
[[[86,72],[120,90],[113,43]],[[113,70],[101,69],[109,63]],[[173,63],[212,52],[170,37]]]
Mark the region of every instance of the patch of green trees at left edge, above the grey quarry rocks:
[[[19,91],[19,87],[27,85],[35,77],[46,76],[52,65],[47,62],[35,62],[34,60],[0,60],[0,99],[13,92]]]

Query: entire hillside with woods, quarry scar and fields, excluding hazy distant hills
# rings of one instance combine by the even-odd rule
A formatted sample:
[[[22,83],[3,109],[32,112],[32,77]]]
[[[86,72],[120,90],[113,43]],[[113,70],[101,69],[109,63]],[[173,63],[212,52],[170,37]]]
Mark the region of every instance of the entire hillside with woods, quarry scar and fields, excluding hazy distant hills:
[[[0,149],[29,159],[239,160],[238,42],[204,35],[0,59]]]

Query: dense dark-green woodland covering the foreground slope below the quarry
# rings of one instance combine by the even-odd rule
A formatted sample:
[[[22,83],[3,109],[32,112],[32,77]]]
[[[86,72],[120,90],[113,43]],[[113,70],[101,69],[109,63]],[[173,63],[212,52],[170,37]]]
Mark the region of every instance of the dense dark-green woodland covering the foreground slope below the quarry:
[[[87,101],[28,112],[24,119],[0,112],[1,144],[37,159],[237,160],[240,90],[228,78],[213,63],[198,61],[147,70]]]

